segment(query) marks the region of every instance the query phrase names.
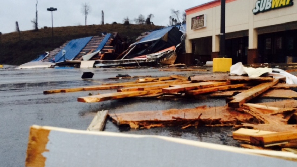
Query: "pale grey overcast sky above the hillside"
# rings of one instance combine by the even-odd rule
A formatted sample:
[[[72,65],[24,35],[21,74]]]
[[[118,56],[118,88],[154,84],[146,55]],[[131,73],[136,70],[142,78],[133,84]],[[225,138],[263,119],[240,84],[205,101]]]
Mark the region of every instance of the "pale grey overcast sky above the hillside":
[[[124,17],[130,20],[139,14],[147,17],[153,14],[151,21],[155,25],[167,26],[171,9],[179,10],[180,15],[189,8],[210,2],[212,0],[38,0],[38,26],[52,26],[51,12],[47,8],[57,8],[53,11],[54,27],[84,25],[82,4],[87,3],[91,11],[87,17],[87,25],[101,23],[101,11],[104,11],[105,23],[123,23]],[[21,31],[33,29],[31,20],[35,18],[36,0],[1,0],[0,32],[15,31],[15,22]],[[132,22],[133,23],[133,22]]]

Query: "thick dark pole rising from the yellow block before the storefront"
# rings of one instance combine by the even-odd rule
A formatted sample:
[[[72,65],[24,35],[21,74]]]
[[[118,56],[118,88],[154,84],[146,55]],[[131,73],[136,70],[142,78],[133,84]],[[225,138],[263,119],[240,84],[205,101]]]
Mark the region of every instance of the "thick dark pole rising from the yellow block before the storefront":
[[[225,33],[226,33],[226,0],[221,0],[220,57],[226,56]]]

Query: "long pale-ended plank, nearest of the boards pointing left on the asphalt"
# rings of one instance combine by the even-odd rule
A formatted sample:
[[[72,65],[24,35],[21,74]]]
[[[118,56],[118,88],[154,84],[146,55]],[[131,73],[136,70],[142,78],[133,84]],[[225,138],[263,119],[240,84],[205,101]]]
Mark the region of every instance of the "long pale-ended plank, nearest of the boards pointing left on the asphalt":
[[[100,101],[108,101],[108,100],[115,100],[125,97],[134,97],[134,96],[141,96],[146,94],[155,94],[161,93],[161,89],[159,90],[151,90],[151,91],[127,91],[127,92],[116,92],[116,93],[106,93],[106,94],[98,94],[94,96],[86,96],[86,97],[79,97],[77,101],[84,102],[84,103],[95,103]]]

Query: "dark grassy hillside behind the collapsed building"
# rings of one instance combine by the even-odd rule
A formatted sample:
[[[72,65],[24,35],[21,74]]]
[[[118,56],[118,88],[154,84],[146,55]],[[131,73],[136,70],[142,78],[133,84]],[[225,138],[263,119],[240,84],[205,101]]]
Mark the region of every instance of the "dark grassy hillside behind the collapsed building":
[[[2,34],[0,36],[0,64],[20,65],[27,63],[45,51],[52,51],[67,40],[87,36],[96,36],[102,32],[119,32],[126,37],[128,42],[135,42],[135,39],[142,33],[161,26],[155,25],[134,25],[124,26],[123,24],[69,26],[54,28],[42,28],[39,31],[22,31]]]

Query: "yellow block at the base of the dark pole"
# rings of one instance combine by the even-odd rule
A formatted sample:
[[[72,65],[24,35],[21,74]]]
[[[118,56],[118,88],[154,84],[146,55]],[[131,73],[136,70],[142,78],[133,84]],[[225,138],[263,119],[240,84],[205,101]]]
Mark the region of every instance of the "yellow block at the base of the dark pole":
[[[213,72],[228,72],[232,66],[232,58],[213,58],[212,71]]]

